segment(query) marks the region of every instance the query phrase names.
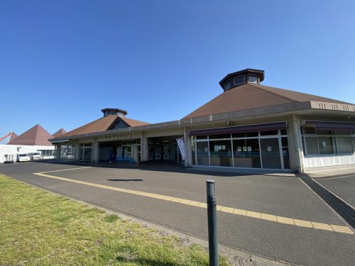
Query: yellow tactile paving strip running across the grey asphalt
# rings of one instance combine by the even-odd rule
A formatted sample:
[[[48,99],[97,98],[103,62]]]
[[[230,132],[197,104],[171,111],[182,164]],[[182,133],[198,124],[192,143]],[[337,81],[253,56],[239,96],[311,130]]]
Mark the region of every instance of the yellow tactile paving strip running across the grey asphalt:
[[[78,169],[83,169],[83,168],[89,168],[89,167],[80,167],[80,168],[71,168],[71,169],[65,169],[65,170],[55,170],[55,171],[48,171],[48,172],[60,172],[60,171],[68,171],[68,170],[78,170]],[[65,177],[55,177],[54,175],[50,174],[45,174],[47,172],[37,172],[33,173],[36,175],[39,175],[40,177],[48,177],[52,179],[58,179],[62,181],[67,181],[67,182],[72,182],[72,183],[77,183],[77,184],[83,184],[91,187],[99,187],[101,189],[109,189],[113,190],[116,192],[124,192],[128,194],[135,194],[139,196],[146,196],[150,197],[153,199],[161,199],[164,201],[170,201],[170,202],[176,202],[179,204],[185,204],[189,206],[196,206],[200,208],[207,208],[207,204],[199,201],[191,201],[190,199],[180,199],[176,198],[173,196],[165,196],[165,195],[160,195],[160,194],[154,194],[154,193],[148,193],[148,192],[141,192],[137,190],[131,190],[131,189],[122,189],[120,187],[111,187],[107,186],[105,184],[95,184],[95,183],[90,183],[90,182],[84,182],[76,179],[69,179]],[[327,223],[316,223],[312,221],[304,221],[304,220],[298,220],[298,219],[293,219],[293,218],[288,218],[288,217],[283,217],[283,216],[274,216],[271,214],[262,214],[259,212],[255,211],[246,211],[242,209],[234,209],[226,206],[220,206],[217,205],[217,211],[221,211],[227,214],[235,214],[235,215],[240,215],[240,216],[247,216],[251,218],[258,218],[261,220],[266,220],[266,221],[273,221],[276,223],[284,223],[292,226],[299,226],[299,227],[305,227],[305,228],[313,228],[317,230],[324,230],[324,231],[333,231],[336,233],[346,233],[346,234],[353,234],[353,231],[347,226],[336,226],[333,224],[327,224]]]

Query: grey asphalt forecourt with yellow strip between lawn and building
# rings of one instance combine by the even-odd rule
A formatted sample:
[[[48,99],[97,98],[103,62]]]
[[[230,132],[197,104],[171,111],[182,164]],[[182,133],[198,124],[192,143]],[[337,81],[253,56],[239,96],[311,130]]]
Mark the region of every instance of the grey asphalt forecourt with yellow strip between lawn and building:
[[[320,196],[288,174],[246,175],[179,166],[91,167],[28,162],[0,172],[53,192],[207,238],[205,180],[216,180],[219,242],[296,265],[353,265],[355,234]],[[355,174],[317,177],[354,206]]]

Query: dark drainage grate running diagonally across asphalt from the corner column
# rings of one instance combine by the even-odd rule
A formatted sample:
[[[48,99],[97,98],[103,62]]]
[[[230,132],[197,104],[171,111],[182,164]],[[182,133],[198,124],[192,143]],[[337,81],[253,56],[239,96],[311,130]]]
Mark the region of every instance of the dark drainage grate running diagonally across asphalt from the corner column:
[[[344,218],[349,225],[355,229],[355,211],[351,206],[346,204],[342,199],[339,199],[337,196],[334,196],[327,189],[324,189],[320,184],[313,181],[307,174],[302,174],[300,178],[305,184],[308,185],[318,196],[320,196],[329,206],[337,211],[337,213]]]

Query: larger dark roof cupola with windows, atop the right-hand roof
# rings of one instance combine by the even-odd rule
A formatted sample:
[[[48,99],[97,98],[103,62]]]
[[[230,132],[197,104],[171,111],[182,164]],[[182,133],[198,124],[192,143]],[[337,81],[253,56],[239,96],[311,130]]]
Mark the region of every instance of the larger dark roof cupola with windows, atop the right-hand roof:
[[[263,70],[252,70],[247,68],[246,70],[237,71],[234,73],[227,74],[220,82],[224,92],[229,89],[234,89],[246,83],[256,83],[259,84],[264,80],[265,72]]]

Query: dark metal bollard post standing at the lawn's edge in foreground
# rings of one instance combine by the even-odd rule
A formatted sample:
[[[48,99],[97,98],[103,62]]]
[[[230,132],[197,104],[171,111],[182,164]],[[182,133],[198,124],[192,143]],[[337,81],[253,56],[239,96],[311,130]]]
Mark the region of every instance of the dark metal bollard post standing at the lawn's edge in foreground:
[[[208,216],[208,248],[209,265],[219,265],[218,239],[217,239],[217,202],[216,182],[207,180],[207,216]]]

